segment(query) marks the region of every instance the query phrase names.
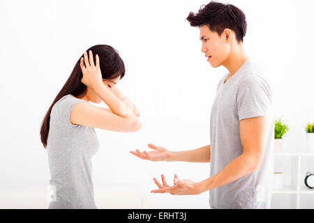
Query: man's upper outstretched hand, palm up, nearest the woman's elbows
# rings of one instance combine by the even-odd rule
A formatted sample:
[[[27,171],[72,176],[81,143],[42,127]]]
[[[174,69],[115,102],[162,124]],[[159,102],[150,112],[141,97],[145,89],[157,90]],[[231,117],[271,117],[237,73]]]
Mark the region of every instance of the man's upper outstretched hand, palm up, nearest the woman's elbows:
[[[153,149],[152,151],[143,151],[140,152],[138,149],[135,151],[130,151],[133,155],[143,159],[151,161],[172,161],[171,153],[165,147],[155,146],[154,144],[147,144],[149,148]]]

